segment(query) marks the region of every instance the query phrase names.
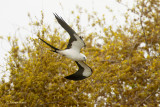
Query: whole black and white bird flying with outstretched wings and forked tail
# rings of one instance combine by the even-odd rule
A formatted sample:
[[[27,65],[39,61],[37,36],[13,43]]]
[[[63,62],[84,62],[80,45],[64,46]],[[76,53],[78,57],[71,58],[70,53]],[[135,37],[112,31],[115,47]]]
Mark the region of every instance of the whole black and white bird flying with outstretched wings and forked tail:
[[[66,79],[70,80],[82,80],[92,75],[92,69],[85,64],[83,61],[86,61],[86,56],[82,53],[80,53],[81,48],[85,46],[84,41],[78,34],[63,20],[62,17],[59,17],[57,14],[54,14],[55,18],[57,19],[58,23],[69,33],[70,39],[69,43],[67,45],[67,48],[65,50],[58,49],[43,39],[39,37],[41,41],[43,41],[45,44],[50,46],[53,52],[59,53],[69,59],[72,59],[76,62],[79,69],[76,73],[66,76]]]

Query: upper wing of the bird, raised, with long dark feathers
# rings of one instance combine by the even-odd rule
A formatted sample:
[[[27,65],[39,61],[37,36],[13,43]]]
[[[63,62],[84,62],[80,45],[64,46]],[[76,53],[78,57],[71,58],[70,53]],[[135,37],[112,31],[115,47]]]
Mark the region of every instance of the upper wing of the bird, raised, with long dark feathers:
[[[53,13],[54,14],[54,13]],[[59,17],[57,14],[54,14],[55,18],[57,19],[58,23],[69,33],[70,40],[67,45],[66,49],[73,48],[76,51],[81,50],[85,46],[84,41],[80,36],[77,35],[77,33],[63,20],[62,17]]]

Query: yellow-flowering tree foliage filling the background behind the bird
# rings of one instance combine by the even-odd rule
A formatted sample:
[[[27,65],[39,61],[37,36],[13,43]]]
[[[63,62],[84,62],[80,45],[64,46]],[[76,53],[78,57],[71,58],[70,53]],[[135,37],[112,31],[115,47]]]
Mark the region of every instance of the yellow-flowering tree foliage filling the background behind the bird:
[[[87,35],[83,37],[87,47],[82,52],[93,69],[93,75],[82,81],[64,79],[76,71],[75,62],[51,52],[38,38],[26,38],[28,43],[22,49],[18,39],[9,39],[10,80],[0,84],[0,105],[17,102],[27,106],[158,106],[159,5],[158,0],[137,0],[135,7],[128,10],[137,17],[129,20],[126,15],[126,24],[116,30],[106,27],[105,15],[99,18],[97,13],[86,12],[88,26],[98,28],[90,33],[81,27],[79,13],[73,29]],[[67,33],[58,28],[52,30],[43,19],[42,13],[41,20],[31,22],[36,35],[64,49]]]

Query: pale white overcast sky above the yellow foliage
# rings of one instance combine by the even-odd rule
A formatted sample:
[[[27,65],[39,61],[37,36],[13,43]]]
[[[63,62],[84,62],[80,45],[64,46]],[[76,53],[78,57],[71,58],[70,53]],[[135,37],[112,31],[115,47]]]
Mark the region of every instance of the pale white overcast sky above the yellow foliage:
[[[129,6],[133,5],[133,0],[123,1]],[[23,42],[25,37],[30,34],[28,13],[40,19],[42,10],[45,22],[54,25],[53,13],[69,20],[71,11],[75,10],[77,6],[88,12],[96,11],[98,15],[105,14],[108,25],[113,24],[111,20],[114,15],[118,17],[118,23],[123,24],[122,16],[127,11],[125,6],[118,4],[115,0],[0,0],[0,78],[5,73],[9,75],[9,72],[5,71],[6,61],[4,60],[11,48],[7,42],[7,36],[17,37]],[[113,12],[109,12],[106,6],[113,9]],[[21,29],[19,30],[19,28]]]

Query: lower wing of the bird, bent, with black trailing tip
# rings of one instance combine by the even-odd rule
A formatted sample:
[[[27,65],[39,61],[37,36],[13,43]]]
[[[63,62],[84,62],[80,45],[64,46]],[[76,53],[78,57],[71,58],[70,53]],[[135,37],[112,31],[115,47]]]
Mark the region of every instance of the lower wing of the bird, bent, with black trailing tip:
[[[66,79],[69,80],[82,80],[92,75],[92,69],[85,64],[83,61],[75,61],[79,69],[72,75],[66,76]]]

